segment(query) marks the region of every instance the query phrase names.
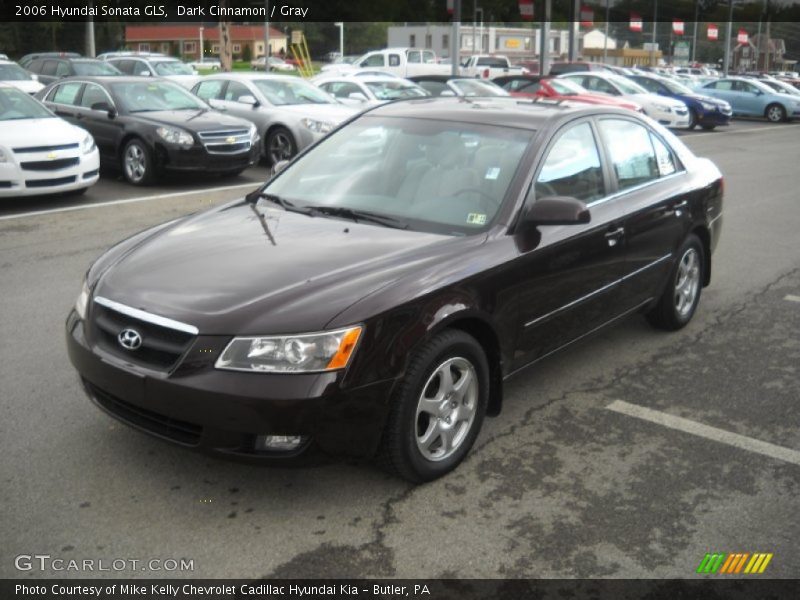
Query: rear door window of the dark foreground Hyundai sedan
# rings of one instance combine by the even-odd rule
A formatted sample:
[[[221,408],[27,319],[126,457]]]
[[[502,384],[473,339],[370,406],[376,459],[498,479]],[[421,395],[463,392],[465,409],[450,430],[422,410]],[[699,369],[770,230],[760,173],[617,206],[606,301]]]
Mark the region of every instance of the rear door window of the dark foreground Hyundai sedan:
[[[620,191],[660,176],[656,153],[646,127],[621,119],[602,119],[599,126]]]

